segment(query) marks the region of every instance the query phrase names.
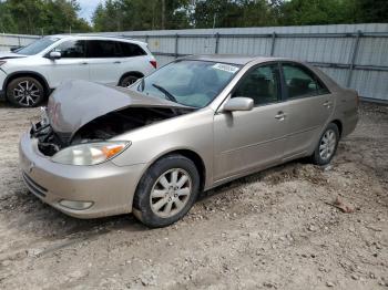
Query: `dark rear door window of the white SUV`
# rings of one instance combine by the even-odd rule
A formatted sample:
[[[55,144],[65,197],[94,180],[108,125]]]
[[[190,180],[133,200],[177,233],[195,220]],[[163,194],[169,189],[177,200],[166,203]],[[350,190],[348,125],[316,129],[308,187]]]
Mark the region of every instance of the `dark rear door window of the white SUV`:
[[[119,42],[110,40],[89,40],[86,42],[88,58],[120,58]]]

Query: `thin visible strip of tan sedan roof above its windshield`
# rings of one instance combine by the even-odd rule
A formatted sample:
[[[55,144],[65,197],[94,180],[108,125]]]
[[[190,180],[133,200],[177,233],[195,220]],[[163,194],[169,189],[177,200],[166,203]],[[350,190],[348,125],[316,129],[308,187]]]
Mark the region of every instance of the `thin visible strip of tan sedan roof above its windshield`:
[[[212,61],[212,62],[224,62],[245,65],[252,61],[275,61],[280,60],[280,58],[267,58],[267,56],[249,56],[249,55],[238,55],[238,54],[204,54],[204,55],[190,55],[181,58],[183,60],[195,60],[195,61]]]

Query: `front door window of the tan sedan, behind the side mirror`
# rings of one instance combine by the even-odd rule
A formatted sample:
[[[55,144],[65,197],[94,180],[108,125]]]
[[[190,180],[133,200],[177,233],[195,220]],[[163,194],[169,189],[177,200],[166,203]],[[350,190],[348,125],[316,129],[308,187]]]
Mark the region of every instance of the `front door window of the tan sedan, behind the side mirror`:
[[[276,103],[280,101],[279,80],[276,63],[257,66],[243,76],[232,97],[251,97],[255,106]]]

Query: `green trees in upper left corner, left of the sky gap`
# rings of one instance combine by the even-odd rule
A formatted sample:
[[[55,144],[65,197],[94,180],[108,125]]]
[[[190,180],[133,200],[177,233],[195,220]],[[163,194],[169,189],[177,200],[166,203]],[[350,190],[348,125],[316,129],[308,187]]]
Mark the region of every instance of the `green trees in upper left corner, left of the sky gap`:
[[[78,17],[75,0],[6,0],[0,2],[0,32],[53,34],[91,31]]]

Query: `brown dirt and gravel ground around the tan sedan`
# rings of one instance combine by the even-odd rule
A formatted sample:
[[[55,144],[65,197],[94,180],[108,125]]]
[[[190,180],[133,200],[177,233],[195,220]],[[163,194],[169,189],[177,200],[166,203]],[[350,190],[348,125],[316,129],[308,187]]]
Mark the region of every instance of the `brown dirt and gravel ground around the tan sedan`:
[[[388,287],[387,106],[361,105],[331,166],[238,179],[154,230],[132,216],[78,220],[29,194],[17,144],[38,115],[0,104],[1,289]]]

